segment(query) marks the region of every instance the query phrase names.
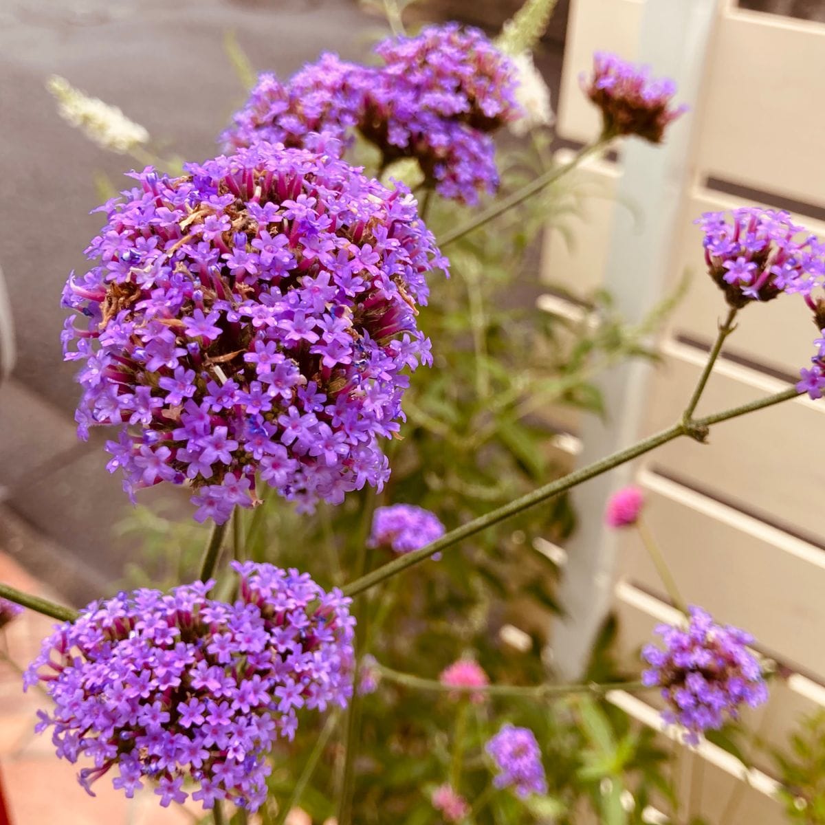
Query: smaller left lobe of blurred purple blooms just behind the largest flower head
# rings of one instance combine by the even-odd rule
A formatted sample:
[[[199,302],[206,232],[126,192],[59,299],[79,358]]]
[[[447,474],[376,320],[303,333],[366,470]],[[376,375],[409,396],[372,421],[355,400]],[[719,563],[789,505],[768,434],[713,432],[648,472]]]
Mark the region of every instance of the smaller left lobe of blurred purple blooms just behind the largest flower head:
[[[220,140],[227,150],[261,140],[295,148],[330,148],[340,141],[340,151],[351,143],[374,71],[325,53],[286,83],[263,73]]]

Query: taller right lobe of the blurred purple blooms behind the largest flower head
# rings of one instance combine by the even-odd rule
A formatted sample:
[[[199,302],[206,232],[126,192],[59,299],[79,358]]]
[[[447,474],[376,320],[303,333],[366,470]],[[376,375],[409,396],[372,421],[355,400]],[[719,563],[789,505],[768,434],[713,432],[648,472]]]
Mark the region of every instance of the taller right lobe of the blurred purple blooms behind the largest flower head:
[[[482,31],[457,23],[384,40],[384,67],[359,128],[386,161],[417,158],[447,198],[475,203],[498,183],[488,133],[521,115],[516,69]]]

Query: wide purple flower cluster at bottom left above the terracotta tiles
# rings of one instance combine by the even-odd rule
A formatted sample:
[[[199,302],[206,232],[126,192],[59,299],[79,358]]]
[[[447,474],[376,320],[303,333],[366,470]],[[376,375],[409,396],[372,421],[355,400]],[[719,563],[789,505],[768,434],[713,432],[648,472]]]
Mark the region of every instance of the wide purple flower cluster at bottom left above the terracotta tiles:
[[[164,807],[229,799],[257,810],[266,799],[266,754],[291,739],[305,707],[345,707],[352,694],[350,600],[309,575],[233,563],[233,605],[206,596],[214,582],[120,593],[92,602],[46,639],[26,672],[54,700],[37,730],[54,727],[57,755],[92,759],[83,787],[118,768],[131,797],[156,783]]]

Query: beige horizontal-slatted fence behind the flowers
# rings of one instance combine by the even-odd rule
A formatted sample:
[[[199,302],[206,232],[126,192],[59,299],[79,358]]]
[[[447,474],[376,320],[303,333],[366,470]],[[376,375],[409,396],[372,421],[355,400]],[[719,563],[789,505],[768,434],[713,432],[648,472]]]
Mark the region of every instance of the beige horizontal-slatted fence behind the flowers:
[[[563,138],[583,143],[597,134],[598,116],[582,95],[578,76],[589,72],[596,50],[628,59],[646,53],[640,31],[651,2],[657,0],[572,0],[559,99]],[[804,214],[821,214],[825,207],[825,118],[812,105],[825,96],[825,26],[746,12],[723,0],[709,32],[708,54],[700,67],[705,91],[686,101],[691,105],[686,117],[695,119],[686,155],[691,167],[679,193],[684,219],[670,238],[671,261],[662,280],[672,288],[684,271],[694,275],[662,341],[662,365],[642,405],[643,432],[681,417],[717,319],[726,312],[705,274],[701,232],[692,219],[705,211],[753,202],[781,206],[791,199],[799,205],[794,219],[825,238],[825,223]],[[554,295],[587,299],[601,286],[610,290],[605,273],[616,210],[630,210],[640,234],[645,222],[656,222],[645,210],[644,191],[623,203],[611,197],[622,174],[620,162],[606,160],[593,160],[577,174],[585,214],[571,224],[574,243],[549,230],[544,248],[543,278]],[[728,191],[744,186],[756,194],[752,199],[724,194],[715,181],[724,181]],[[784,389],[813,353],[811,315],[796,296],[748,307],[738,325],[699,413]],[[747,628],[760,653],[794,672],[788,681],[775,681],[768,709],[748,717],[773,747],[783,747],[802,714],[825,707],[822,455],[825,403],[805,398],[714,427],[707,445],[672,442],[640,461],[636,472],[636,483],[647,493],[649,524],[686,600],[705,606],[720,621]],[[641,644],[673,610],[632,530],[616,549],[614,578],[621,652],[627,663],[638,662]],[[657,724],[655,697],[615,699],[646,724]],[[721,825],[725,800],[742,773],[713,748],[701,750],[699,758],[708,765],[701,813]],[[754,760],[757,775],[724,825],[785,821],[774,799],[770,759],[754,754]]]

